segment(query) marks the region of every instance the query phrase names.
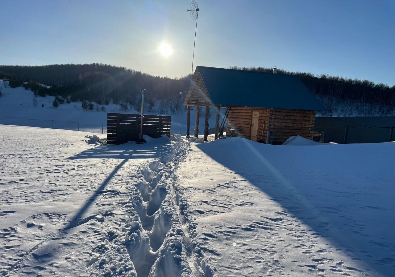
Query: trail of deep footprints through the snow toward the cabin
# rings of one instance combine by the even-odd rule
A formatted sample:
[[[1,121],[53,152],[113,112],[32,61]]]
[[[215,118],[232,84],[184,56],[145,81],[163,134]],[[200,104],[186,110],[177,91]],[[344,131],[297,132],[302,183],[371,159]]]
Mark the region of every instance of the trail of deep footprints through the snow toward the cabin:
[[[94,249],[87,263],[91,276],[212,276],[194,238],[196,225],[184,217],[188,204],[174,175],[190,142],[172,140],[172,150],[143,165],[139,182],[128,187],[128,218]]]

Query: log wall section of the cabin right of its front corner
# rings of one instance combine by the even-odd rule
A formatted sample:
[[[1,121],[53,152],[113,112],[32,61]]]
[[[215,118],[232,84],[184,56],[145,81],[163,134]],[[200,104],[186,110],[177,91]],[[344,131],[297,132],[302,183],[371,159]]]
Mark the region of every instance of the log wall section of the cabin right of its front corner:
[[[315,111],[273,109],[269,117],[270,143],[280,145],[298,135],[313,139],[315,116]]]

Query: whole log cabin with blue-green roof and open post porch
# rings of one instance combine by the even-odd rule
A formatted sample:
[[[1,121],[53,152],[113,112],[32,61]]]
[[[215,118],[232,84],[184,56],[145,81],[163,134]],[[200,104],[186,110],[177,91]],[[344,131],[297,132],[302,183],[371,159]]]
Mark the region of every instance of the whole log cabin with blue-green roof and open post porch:
[[[294,75],[197,66],[186,94],[187,137],[190,107],[196,106],[195,137],[199,134],[200,107],[205,107],[203,139],[207,141],[209,108],[216,107],[216,134],[220,112],[226,108],[226,136],[280,145],[290,136],[313,139],[316,111],[326,111]]]

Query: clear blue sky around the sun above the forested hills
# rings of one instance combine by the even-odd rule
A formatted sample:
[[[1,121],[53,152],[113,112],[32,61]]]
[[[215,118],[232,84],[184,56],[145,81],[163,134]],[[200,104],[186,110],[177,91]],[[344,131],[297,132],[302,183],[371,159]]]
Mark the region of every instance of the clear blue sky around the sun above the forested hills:
[[[395,84],[394,0],[197,0],[196,65],[263,66]],[[191,71],[189,0],[2,1],[0,64]],[[165,56],[160,45],[172,53]]]

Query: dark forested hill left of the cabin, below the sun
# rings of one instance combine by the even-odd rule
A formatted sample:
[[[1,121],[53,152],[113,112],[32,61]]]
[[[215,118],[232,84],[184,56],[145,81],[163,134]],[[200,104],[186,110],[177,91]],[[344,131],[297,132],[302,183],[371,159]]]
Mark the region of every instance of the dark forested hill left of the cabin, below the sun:
[[[36,81],[51,86],[38,88],[38,95],[60,95],[71,100],[101,102],[112,99],[131,106],[139,102],[140,89],[147,90],[147,104],[152,108],[155,102],[162,103],[161,111],[181,111],[182,100],[190,83],[190,76],[167,78],[152,76],[124,67],[92,64],[65,64],[43,66],[0,65],[0,78],[8,78],[10,86],[21,86],[21,82]],[[30,87],[29,87],[30,88]],[[34,90],[34,89],[32,89]],[[40,91],[41,90],[41,91]],[[180,93],[181,92],[181,93]],[[136,104],[136,107],[138,105]]]

